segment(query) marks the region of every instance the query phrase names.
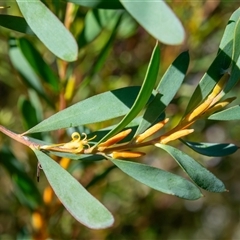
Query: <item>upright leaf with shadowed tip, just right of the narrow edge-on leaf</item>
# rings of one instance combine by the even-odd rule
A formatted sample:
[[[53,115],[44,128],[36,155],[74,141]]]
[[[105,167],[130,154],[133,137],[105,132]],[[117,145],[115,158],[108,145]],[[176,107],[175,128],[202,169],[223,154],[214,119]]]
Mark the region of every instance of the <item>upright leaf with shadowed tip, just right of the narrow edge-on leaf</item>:
[[[183,52],[169,66],[157,86],[156,90],[158,93],[147,106],[136,135],[144,132],[162,115],[163,111],[166,109],[182,85],[188,65],[189,53]]]

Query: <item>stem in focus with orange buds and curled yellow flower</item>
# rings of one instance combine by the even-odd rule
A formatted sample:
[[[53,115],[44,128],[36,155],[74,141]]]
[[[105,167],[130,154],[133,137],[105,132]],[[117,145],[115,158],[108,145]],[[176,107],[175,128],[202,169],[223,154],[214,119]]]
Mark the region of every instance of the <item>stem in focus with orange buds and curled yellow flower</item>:
[[[221,110],[223,107],[231,103],[235,98],[228,98],[219,102],[224,95],[223,89],[228,78],[229,75],[225,74],[213,88],[213,91],[209,94],[205,101],[199,104],[199,106],[197,106],[192,112],[188,113],[176,127],[157,137],[153,136],[165,127],[165,125],[169,122],[168,118],[154,124],[145,132],[135,136],[129,142],[119,143],[131,133],[132,129],[126,129],[94,147],[90,146],[90,141],[96,136],[88,139],[85,133],[82,133],[84,137],[81,138],[79,133],[74,132],[72,134],[72,140],[68,143],[39,145],[30,141],[27,137],[23,136],[23,134],[16,134],[3,126],[0,126],[0,131],[30,148],[37,148],[43,151],[47,150],[73,154],[101,154],[115,159],[138,158],[145,155],[145,153],[138,152],[133,149],[151,145],[153,146],[159,143],[167,144],[171,141],[185,137],[194,132],[194,129],[189,129],[189,127],[198,119],[207,118],[214,112]],[[153,138],[146,140],[151,137]]]

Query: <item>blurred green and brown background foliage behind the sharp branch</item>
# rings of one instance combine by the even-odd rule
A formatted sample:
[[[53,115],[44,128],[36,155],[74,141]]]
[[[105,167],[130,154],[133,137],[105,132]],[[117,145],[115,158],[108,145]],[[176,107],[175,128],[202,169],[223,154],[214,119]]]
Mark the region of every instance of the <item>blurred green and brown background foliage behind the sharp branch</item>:
[[[155,39],[126,12],[121,15],[114,10],[70,6],[64,1],[43,2],[62,21],[66,14],[73,16],[74,21],[67,18],[65,24],[69,24],[78,43],[78,60],[68,64],[59,59],[56,61],[54,54],[35,36],[1,27],[0,124],[16,132],[27,131],[46,117],[90,96],[120,87],[141,85],[155,45]],[[10,8],[0,9],[1,14],[20,15],[15,2],[6,1],[4,4],[9,4]],[[160,45],[159,76],[181,52],[188,50],[191,59],[188,75],[166,109],[166,115],[172,119],[174,126],[184,114],[200,78],[215,58],[224,28],[238,4],[225,1],[168,1],[168,4],[181,20],[186,39],[178,46]],[[1,21],[0,16],[0,24]],[[20,21],[22,32],[32,34],[26,23]],[[43,60],[35,58],[37,62],[34,62],[27,52],[28,47]],[[15,54],[21,57],[21,61],[14,62]],[[30,62],[31,66],[27,66],[26,62]],[[30,77],[28,68],[34,69]],[[32,81],[29,82],[29,79]],[[233,96],[238,96],[238,85],[231,92]],[[110,123],[117,121],[91,124],[88,129],[77,130],[92,132]],[[238,145],[239,132],[237,121],[200,121],[195,126],[191,141]],[[34,134],[32,137],[47,142],[69,139],[69,133],[61,131]],[[69,172],[91,194],[101,199],[115,217],[113,227],[91,230],[59,207],[56,198],[42,205],[41,195],[48,183],[44,174],[41,174],[39,183],[36,181],[37,161],[30,150],[2,134],[0,146],[1,239],[44,239],[48,236],[53,239],[143,240],[240,238],[238,152],[210,158],[179,145],[181,150],[190,152],[194,159],[218,176],[229,190],[221,194],[204,191],[204,197],[197,201],[182,200],[151,190],[106,161],[94,164],[72,161]],[[9,146],[13,153],[9,151]],[[158,150],[149,149],[148,158],[144,161],[145,164],[183,175],[164,152],[160,155]],[[26,198],[27,193],[31,196]],[[37,211],[36,206],[39,206]],[[34,225],[32,217],[37,219],[38,215],[33,213],[40,213],[48,219],[42,226],[44,231],[39,231],[37,224]]]

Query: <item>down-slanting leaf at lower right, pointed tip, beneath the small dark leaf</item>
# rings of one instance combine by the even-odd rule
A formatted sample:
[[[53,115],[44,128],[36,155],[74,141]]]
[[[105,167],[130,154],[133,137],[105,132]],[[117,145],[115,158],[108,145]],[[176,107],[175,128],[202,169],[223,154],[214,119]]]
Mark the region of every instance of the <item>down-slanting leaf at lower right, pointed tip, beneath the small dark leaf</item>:
[[[174,147],[164,144],[157,143],[156,147],[162,148],[168,152],[199,187],[210,192],[226,191],[222,181],[216,178],[211,172],[187,154]]]

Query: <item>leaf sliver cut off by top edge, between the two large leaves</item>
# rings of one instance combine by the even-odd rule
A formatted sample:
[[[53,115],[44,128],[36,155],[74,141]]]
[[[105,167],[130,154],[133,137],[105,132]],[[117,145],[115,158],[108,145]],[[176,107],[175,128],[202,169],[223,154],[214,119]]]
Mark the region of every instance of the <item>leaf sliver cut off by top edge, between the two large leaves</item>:
[[[121,9],[122,4],[118,0],[94,0],[94,1],[86,1],[86,0],[64,0],[66,2],[72,2],[81,6],[89,7],[89,8],[105,8],[105,9]]]

